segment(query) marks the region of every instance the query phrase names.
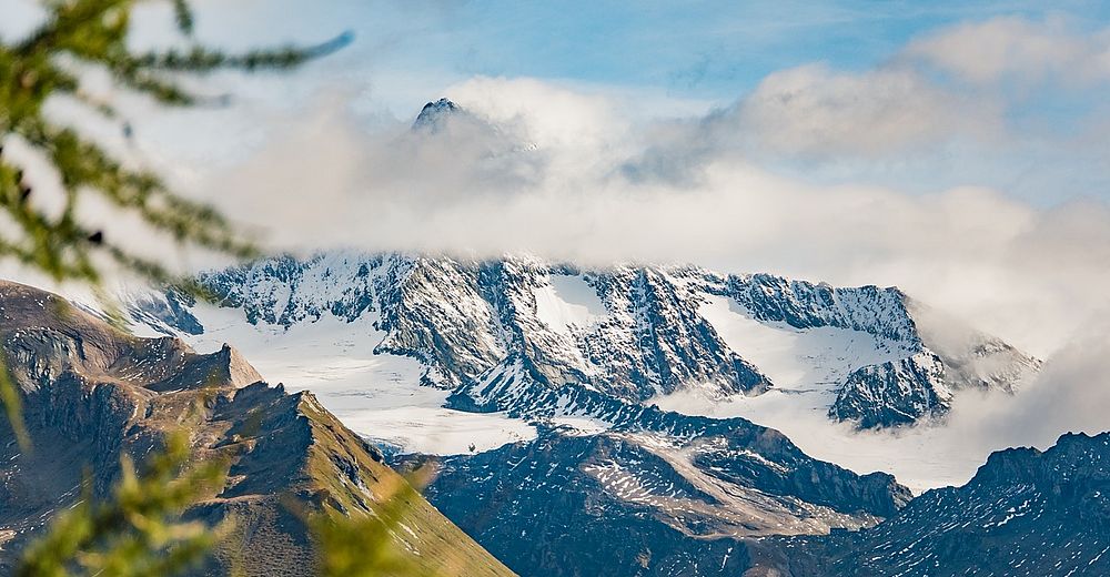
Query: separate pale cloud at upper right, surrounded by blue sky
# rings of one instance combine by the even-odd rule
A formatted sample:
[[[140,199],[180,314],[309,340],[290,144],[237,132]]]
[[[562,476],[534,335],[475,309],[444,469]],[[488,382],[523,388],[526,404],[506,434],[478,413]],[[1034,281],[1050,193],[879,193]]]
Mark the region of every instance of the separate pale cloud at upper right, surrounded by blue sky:
[[[1061,120],[1104,124],[1097,103],[1107,81],[1110,28],[995,18],[912,40],[871,69],[811,63],[774,72],[690,138],[714,141],[714,150],[817,162],[942,159],[952,150],[1031,150],[1046,140],[1082,151],[1089,142],[1053,131]],[[1072,112],[1053,117],[1063,104]]]

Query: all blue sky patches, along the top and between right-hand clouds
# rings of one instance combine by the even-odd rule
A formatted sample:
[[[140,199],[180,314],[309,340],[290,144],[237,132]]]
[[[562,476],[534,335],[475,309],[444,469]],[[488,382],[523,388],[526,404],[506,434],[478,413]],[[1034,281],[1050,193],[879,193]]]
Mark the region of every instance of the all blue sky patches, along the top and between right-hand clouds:
[[[1082,0],[1051,6],[330,0],[326,9],[305,0],[200,0],[198,6],[201,36],[229,47],[355,32],[349,49],[286,81],[281,97],[344,85],[363,92],[353,105],[365,115],[397,119],[411,118],[423,102],[475,77],[538,79],[626,99],[639,113],[688,117],[731,107],[768,75],[796,67],[820,63],[839,74],[881,69],[915,40],[960,24],[1017,17],[1033,23],[1062,21],[1069,33],[1082,36],[1101,33],[1110,22],[1110,3]],[[144,30],[160,38],[163,29]],[[944,75],[935,80],[951,84]],[[882,159],[815,161],[781,154],[760,162],[826,184],[870,183],[912,193],[988,185],[1038,205],[1077,196],[1110,199],[1110,148],[1106,141],[1090,146],[1073,142],[1110,117],[1100,110],[1108,85],[1058,90],[1051,79],[1025,85],[1020,74],[1020,85],[1013,81],[978,94],[1005,100],[999,118],[1008,133],[1001,146],[955,139]],[[966,88],[951,87],[951,92]]]

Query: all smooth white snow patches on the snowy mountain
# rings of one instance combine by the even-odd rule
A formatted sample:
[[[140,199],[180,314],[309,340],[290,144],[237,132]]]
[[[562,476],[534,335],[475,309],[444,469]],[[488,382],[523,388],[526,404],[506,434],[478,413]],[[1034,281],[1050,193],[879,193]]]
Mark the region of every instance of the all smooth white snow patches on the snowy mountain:
[[[589,327],[606,314],[594,290],[577,276],[553,275],[549,285],[536,288],[535,297],[537,317],[562,334],[572,326]],[[532,425],[504,414],[444,408],[450,392],[420,385],[423,367],[416,360],[373,354],[384,334],[374,328],[372,315],[353,323],[325,315],[286,331],[251,325],[235,308],[199,305],[192,312],[206,331],[182,336],[198,351],[230,343],[269,382],[283,383],[289,391],[312,391],[353,431],[403,452],[447,455],[467,453],[472,446],[480,452],[536,436]],[[775,388],[724,399],[692,388],[652,399],[662,408],[743,416],[781,431],[817,458],[857,473],[891,473],[915,493],[967,482],[991,448],[1002,448],[967,445],[958,429],[945,426],[858,432],[830,421],[826,413],[848,373],[908,354],[895,342],[859,331],[758,322],[727,297],[710,297],[699,312],[729,347],[771,378]],[[558,422],[581,434],[603,429],[578,417]]]

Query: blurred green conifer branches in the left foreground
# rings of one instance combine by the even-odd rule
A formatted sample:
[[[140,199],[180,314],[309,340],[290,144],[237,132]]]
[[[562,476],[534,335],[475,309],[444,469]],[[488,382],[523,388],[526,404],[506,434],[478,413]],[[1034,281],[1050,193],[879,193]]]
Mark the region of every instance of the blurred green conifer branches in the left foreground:
[[[155,0],[157,1],[157,0]],[[316,47],[282,47],[229,54],[198,43],[194,14],[186,0],[172,6],[179,44],[135,52],[127,40],[132,11],[140,0],[42,0],[46,17],[26,38],[0,38],[0,259],[14,259],[54,281],[93,287],[112,265],[159,283],[199,291],[188,279],[174,277],[162,263],[115,242],[111,231],[82,222],[80,200],[97,196],[117,210],[137,215],[154,233],[186,247],[251,257],[256,246],[233,223],[206,204],[171,190],[154,172],[134,168],[73,126],[51,119],[51,99],[69,98],[131,126],[120,111],[87,89],[92,73],[107,73],[117,88],[169,107],[190,107],[208,99],[182,80],[218,70],[289,70],[327,54],[350,38],[341,36]],[[61,210],[37,202],[28,168],[4,154],[2,144],[19,141],[47,159],[61,184]],[[2,346],[0,346],[2,352]],[[0,402],[20,444],[30,447],[20,413],[20,396],[0,357]],[[121,479],[111,496],[84,498],[60,514],[48,533],[22,555],[20,576],[161,576],[193,567],[230,530],[228,522],[209,527],[184,522],[181,514],[198,499],[219,493],[226,463],[191,463],[188,435],[170,434],[162,452],[140,473],[125,455]],[[88,484],[87,484],[88,485]],[[335,510],[309,512],[319,543],[319,570],[325,576],[413,575],[411,561],[396,550],[391,536],[410,498],[408,484],[376,516],[349,518]]]

